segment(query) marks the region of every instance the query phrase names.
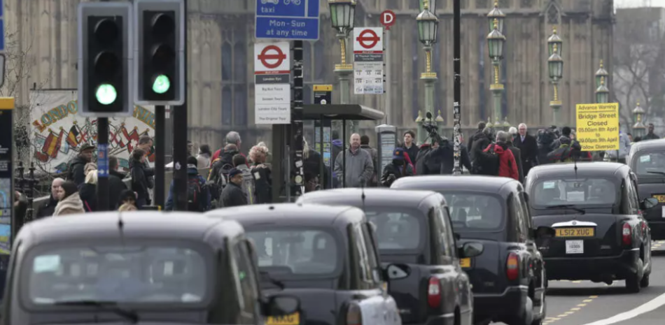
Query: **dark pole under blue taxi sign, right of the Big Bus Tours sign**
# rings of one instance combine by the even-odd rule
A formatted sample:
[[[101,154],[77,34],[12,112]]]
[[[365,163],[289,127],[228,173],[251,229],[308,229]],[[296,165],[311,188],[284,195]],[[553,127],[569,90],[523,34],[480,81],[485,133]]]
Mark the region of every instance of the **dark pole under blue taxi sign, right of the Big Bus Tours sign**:
[[[293,163],[295,167],[294,184],[296,187],[296,196],[304,194],[304,171],[302,163],[302,41],[293,41],[293,116],[292,124],[295,132],[293,135],[293,143],[290,147],[295,148],[295,159]],[[288,189],[290,192],[290,189]]]

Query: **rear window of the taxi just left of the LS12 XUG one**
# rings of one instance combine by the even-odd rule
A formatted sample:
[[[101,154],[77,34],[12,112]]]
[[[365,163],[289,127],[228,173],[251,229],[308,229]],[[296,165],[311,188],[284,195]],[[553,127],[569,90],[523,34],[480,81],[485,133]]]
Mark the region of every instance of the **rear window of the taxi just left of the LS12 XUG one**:
[[[442,193],[448,203],[455,231],[499,231],[503,229],[505,209],[493,195],[479,193]]]

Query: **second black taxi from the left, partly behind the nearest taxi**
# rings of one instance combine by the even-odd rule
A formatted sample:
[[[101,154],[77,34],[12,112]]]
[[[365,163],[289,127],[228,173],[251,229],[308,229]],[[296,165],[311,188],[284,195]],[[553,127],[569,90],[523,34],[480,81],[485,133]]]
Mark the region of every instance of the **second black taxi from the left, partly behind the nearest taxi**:
[[[246,229],[268,295],[300,298],[300,310],[269,318],[266,325],[402,324],[362,210],[281,203],[206,215],[235,220]]]

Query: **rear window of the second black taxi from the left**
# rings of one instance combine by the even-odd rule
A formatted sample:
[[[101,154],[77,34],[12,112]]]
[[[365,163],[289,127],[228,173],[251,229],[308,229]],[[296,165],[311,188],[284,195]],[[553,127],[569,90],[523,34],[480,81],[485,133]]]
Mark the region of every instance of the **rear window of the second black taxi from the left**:
[[[272,275],[332,275],[338,263],[339,242],[323,229],[265,229],[248,231],[261,271]]]

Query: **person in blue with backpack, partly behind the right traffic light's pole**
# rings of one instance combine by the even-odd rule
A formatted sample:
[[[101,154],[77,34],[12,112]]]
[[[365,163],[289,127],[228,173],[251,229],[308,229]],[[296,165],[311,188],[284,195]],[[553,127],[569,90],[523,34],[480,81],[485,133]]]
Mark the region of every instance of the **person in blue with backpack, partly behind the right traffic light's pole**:
[[[196,157],[187,158],[187,210],[192,212],[205,212],[210,210],[210,192],[206,186],[206,180],[199,175],[196,168],[198,161]],[[169,188],[165,210],[173,210],[173,180]]]

